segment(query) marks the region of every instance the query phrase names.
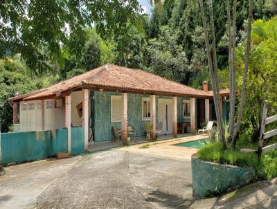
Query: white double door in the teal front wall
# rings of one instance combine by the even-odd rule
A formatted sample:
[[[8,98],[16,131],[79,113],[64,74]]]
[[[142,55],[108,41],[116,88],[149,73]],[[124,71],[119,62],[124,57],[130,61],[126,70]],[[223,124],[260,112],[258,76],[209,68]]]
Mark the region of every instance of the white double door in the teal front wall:
[[[163,122],[161,134],[172,134],[172,100],[159,99],[159,122]]]

